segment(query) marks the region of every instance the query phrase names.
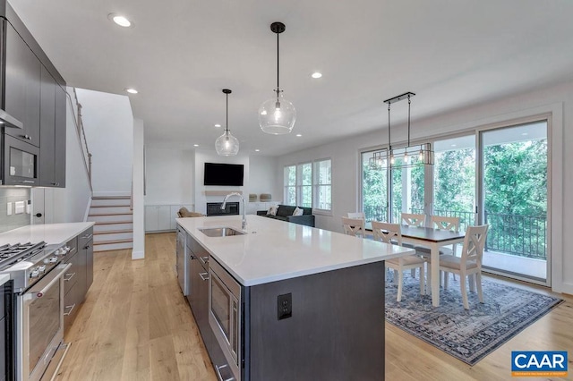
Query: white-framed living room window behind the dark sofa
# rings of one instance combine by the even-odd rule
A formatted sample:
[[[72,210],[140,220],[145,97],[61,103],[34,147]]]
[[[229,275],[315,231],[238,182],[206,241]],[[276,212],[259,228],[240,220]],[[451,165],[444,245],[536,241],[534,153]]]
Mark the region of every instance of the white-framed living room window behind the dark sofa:
[[[332,204],[330,167],[330,159],[287,165],[284,173],[284,204],[330,210]]]

